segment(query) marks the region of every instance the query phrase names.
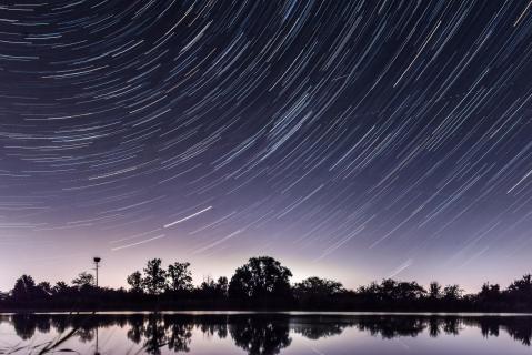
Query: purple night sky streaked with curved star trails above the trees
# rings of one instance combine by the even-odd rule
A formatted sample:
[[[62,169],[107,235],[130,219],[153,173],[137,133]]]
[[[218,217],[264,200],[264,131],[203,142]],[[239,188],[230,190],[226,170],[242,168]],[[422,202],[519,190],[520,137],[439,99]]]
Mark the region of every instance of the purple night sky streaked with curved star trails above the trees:
[[[6,0],[0,290],[532,271],[532,2]]]

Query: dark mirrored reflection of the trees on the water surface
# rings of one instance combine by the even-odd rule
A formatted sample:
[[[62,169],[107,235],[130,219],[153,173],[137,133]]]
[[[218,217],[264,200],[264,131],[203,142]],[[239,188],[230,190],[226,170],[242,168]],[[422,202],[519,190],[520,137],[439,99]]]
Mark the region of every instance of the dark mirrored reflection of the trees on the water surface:
[[[425,333],[435,338],[460,335],[465,328],[478,328],[479,336],[499,337],[502,332],[524,346],[531,345],[530,316],[434,316],[434,315],[350,315],[350,314],[14,314],[0,316],[0,325],[10,326],[21,341],[37,334],[59,334],[64,343],[69,334],[79,344],[90,343],[99,353],[99,331],[124,329],[126,338],[140,353],[187,353],[193,349],[193,335],[232,341],[252,355],[280,354],[292,344],[292,337],[318,341],[340,336],[347,328],[382,339],[416,337]],[[96,343],[96,344],[94,344]],[[66,348],[54,347],[57,351]],[[68,351],[71,351],[70,348]],[[4,348],[3,352],[8,353]],[[107,352],[110,353],[109,351]],[[112,353],[112,352],[111,352]]]

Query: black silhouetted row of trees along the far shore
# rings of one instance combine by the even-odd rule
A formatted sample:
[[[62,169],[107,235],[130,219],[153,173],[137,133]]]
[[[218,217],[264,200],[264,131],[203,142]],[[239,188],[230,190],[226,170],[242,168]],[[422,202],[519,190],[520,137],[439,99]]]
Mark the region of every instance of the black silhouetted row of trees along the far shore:
[[[290,283],[292,272],[270,256],[251,257],[230,280],[207,277],[192,284],[190,263],[163,266],[160,258],[148,261],[142,271],[127,277],[124,288],[97,287],[94,276],[81,273],[71,284],[36,283],[29,275],[0,295],[0,308],[24,310],[331,310],[331,311],[461,311],[531,312],[532,276],[512,282],[506,288],[485,283],[475,294],[460,285],[432,282],[428,288],[416,282],[392,278],[357,290],[317,276]]]

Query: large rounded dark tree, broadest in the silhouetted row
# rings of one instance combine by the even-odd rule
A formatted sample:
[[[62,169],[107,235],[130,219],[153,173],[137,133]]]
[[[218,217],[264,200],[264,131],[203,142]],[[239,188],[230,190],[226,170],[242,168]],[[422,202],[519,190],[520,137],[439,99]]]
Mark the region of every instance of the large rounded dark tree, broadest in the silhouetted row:
[[[290,297],[291,276],[292,272],[273,257],[251,257],[231,277],[229,296],[263,301],[269,297]]]

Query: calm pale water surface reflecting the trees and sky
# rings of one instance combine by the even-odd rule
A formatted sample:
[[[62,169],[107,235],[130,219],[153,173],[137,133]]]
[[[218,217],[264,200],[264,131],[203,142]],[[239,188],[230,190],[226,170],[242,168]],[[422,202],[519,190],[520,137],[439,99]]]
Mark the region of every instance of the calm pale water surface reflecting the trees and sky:
[[[532,316],[0,315],[0,354],[532,354]]]

